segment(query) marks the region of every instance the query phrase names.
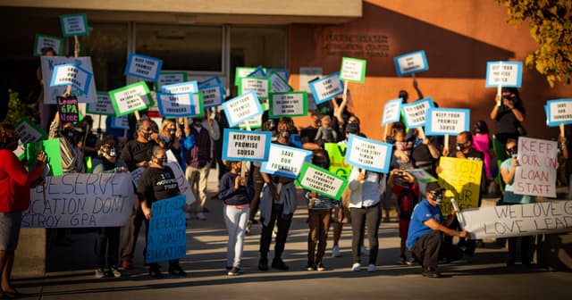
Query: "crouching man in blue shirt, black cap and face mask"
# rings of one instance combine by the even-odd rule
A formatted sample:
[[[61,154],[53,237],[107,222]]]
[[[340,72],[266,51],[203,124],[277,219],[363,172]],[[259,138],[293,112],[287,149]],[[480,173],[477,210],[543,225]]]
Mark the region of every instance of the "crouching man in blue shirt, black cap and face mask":
[[[436,268],[439,258],[447,256],[449,248],[443,246],[444,235],[452,237],[468,237],[465,230],[450,229],[457,211],[453,210],[449,217],[443,218],[439,204],[442,202],[442,188],[437,182],[430,182],[425,187],[425,197],[416,204],[409,223],[407,246],[413,258],[421,264],[425,277],[440,278]]]

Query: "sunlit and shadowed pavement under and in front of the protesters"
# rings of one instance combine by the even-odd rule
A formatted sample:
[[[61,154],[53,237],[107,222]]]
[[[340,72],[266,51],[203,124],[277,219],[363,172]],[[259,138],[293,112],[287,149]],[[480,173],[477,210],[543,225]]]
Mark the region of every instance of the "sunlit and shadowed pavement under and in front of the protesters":
[[[212,177],[211,177],[212,178]],[[209,182],[214,195],[217,183]],[[209,200],[207,221],[191,220],[187,227],[187,256],[181,266],[185,278],[166,275],[153,279],[143,267],[143,235],[136,248],[135,269],[122,271],[119,279],[96,279],[95,233],[73,231],[71,246],[48,246],[47,271],[40,278],[13,279],[26,299],[564,299],[572,292],[572,273],[517,266],[507,268],[507,250],[486,243],[475,256],[440,265],[441,279],[421,276],[421,268],[398,265],[400,239],[395,217],[380,228],[377,271],[351,271],[351,230],[344,226],[341,257],[332,257],[332,231],[324,259],[326,271],[306,271],[307,209],[303,200],[294,215],[286,251],[282,258],[290,271],[258,271],[260,225],[246,237],[243,274],[230,277],[226,264],[227,230],[223,204]],[[141,230],[144,231],[144,230]],[[270,259],[273,257],[271,246]],[[362,257],[365,263],[366,258]],[[167,268],[163,263],[163,270]],[[165,271],[166,273],[166,271]]]

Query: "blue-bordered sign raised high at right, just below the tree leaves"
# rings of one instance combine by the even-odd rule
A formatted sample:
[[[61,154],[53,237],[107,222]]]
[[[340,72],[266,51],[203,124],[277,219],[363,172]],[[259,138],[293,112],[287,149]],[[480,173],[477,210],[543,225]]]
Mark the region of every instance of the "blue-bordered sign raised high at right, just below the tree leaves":
[[[485,87],[520,87],[522,62],[487,62]]]

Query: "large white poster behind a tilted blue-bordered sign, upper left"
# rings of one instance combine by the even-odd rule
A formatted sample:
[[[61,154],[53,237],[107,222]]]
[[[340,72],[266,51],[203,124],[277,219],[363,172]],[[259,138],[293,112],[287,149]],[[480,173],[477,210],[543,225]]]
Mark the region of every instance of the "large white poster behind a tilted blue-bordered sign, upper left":
[[[52,82],[54,69],[56,66],[66,63],[72,63],[81,67],[83,70],[93,74],[90,57],[63,57],[63,56],[42,56],[40,57],[42,67],[42,79],[44,79],[44,104],[57,104],[57,96],[62,96],[67,86],[50,87],[48,82]],[[83,93],[79,89],[73,89],[71,96],[77,96],[80,103],[96,103],[97,102],[96,81],[93,76],[89,81],[88,93]]]

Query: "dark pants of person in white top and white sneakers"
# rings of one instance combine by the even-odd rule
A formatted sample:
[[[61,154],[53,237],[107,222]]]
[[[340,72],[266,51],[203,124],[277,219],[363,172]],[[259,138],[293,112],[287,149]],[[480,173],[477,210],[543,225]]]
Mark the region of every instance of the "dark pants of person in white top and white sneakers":
[[[351,215],[351,252],[354,263],[360,262],[361,251],[359,248],[364,244],[367,224],[369,264],[375,264],[375,262],[377,262],[377,251],[379,249],[379,224],[382,221],[382,212],[379,208],[379,204],[362,208],[350,207],[349,214]]]

